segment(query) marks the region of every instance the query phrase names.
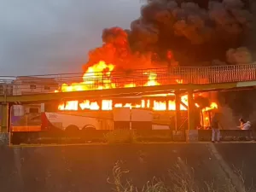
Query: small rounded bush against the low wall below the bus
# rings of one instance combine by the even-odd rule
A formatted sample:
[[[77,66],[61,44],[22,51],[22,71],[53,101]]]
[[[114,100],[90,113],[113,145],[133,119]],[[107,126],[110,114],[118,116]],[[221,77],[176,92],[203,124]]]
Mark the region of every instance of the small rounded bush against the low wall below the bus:
[[[107,143],[135,143],[137,136],[134,131],[130,130],[114,130],[105,135]]]

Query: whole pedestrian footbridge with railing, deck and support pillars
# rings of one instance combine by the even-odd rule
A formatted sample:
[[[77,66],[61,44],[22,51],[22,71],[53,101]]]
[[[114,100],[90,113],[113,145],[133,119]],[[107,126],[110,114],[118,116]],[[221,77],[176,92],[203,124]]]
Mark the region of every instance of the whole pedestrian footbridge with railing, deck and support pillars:
[[[166,92],[186,92],[189,96],[189,127],[193,127],[193,93],[234,89],[253,89],[256,86],[256,64],[226,65],[215,67],[168,67],[134,70],[129,73],[112,72],[50,74],[26,77],[0,77],[3,106],[2,131],[7,131],[9,105],[35,102],[50,102],[95,97],[113,98],[122,96],[143,96]],[[40,81],[37,90],[32,91],[35,79]],[[151,82],[151,84],[146,84]],[[155,83],[157,82],[157,83]],[[68,84],[73,83],[74,89]],[[7,91],[7,84],[13,87],[13,94]],[[45,84],[54,84],[55,92],[45,89]],[[125,84],[130,84],[128,87]],[[131,85],[132,84],[132,85]],[[1,85],[1,84],[0,84]],[[23,90],[15,94],[15,89]],[[178,96],[177,96],[178,98]],[[179,102],[176,100],[177,103]]]

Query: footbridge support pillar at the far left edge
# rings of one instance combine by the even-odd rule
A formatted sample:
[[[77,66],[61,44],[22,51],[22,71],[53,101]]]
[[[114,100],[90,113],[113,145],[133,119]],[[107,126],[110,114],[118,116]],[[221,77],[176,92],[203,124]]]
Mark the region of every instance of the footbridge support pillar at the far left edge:
[[[2,104],[2,120],[0,132],[0,145],[9,145],[9,103]]]

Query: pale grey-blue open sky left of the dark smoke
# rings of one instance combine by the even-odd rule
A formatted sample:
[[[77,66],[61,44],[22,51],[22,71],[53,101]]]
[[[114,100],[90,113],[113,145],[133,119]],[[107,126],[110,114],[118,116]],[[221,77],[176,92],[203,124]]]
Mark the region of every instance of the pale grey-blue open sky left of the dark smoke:
[[[102,29],[130,27],[138,0],[9,0],[0,8],[0,75],[81,72]]]

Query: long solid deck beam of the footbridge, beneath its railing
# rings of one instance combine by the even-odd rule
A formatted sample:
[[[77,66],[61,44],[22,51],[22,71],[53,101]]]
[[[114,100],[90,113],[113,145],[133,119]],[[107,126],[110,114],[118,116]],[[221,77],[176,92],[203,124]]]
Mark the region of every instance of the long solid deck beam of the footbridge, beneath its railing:
[[[108,90],[85,90],[74,92],[59,92],[59,93],[42,93],[22,96],[0,96],[0,103],[36,103],[36,102],[52,102],[61,100],[73,99],[90,99],[95,97],[114,98],[123,96],[145,96],[161,93],[172,93],[175,91],[187,92],[206,92],[206,91],[222,91],[222,90],[241,90],[254,89],[256,81],[225,83],[225,84],[168,84],[148,87],[133,87],[133,88],[115,88]]]

